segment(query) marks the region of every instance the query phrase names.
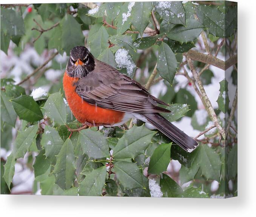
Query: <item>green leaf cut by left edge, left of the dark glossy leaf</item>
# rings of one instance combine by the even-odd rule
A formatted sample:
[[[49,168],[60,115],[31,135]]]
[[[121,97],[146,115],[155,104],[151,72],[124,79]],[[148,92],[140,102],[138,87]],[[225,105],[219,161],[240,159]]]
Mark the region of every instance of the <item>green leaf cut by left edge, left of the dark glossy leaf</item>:
[[[8,95],[1,90],[1,120],[15,127],[17,114],[9,100]]]

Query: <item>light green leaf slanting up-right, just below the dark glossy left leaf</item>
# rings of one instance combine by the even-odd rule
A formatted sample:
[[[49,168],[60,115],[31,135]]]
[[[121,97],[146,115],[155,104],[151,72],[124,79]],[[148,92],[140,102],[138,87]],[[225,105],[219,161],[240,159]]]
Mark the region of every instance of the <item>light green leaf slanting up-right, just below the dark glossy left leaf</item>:
[[[35,139],[37,129],[37,125],[32,125],[26,128],[24,131],[18,132],[12,151],[16,159],[24,157],[26,151],[28,151],[29,147]]]

